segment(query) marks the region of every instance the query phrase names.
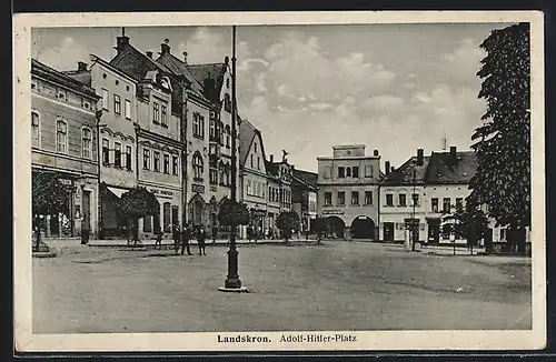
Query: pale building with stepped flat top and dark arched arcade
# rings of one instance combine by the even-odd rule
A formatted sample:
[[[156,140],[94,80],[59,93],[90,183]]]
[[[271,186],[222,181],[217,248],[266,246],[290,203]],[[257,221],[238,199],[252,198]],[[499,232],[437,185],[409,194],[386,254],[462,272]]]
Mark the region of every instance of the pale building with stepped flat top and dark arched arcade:
[[[336,145],[332,157],[318,158],[318,214],[329,232],[347,240],[378,239],[380,155],[364,144]]]

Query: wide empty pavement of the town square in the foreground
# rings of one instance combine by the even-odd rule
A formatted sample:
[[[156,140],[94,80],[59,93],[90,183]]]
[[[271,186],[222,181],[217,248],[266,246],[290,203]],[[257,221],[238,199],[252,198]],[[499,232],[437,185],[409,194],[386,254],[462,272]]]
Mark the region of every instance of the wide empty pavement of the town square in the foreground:
[[[71,243],[71,242],[70,242]],[[530,259],[346,241],[207,255],[79,245],[32,260],[33,333],[530,329]]]

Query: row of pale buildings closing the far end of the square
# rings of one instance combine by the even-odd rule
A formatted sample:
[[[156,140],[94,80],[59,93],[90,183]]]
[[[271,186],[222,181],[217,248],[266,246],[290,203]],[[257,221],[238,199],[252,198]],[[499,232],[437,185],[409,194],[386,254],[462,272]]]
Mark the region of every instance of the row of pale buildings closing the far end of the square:
[[[474,151],[450,147],[425,155],[418,149],[398,168],[389,161],[381,168],[380,159],[377,150],[367,155],[363,144],[334,147],[331,157],[318,158],[318,215],[328,220],[330,234],[395,242],[406,240],[415,224],[421,243],[465,242],[445,217],[470,193]],[[503,242],[506,230],[492,221],[485,239]]]

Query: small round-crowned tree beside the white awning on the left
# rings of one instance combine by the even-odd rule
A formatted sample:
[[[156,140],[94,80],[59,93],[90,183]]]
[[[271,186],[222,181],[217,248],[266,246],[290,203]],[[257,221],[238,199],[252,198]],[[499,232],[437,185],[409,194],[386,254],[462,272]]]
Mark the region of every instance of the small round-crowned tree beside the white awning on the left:
[[[115,205],[115,209],[121,215],[133,220],[133,245],[139,240],[138,227],[139,219],[147,215],[160,214],[160,203],[152,192],[142,187],[130,189],[121,195],[121,199]],[[129,237],[129,228],[128,228]]]

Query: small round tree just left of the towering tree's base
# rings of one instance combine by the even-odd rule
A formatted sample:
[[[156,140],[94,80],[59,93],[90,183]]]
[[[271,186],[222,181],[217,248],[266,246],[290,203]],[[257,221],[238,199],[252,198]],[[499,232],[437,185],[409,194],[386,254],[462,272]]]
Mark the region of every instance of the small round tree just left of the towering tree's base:
[[[467,240],[467,245],[473,253],[473,247],[477,245],[488,230],[488,218],[483,210],[469,203],[465,207],[458,205],[455,209],[456,211],[445,217],[444,221],[453,221],[448,223],[451,225],[450,231]]]

